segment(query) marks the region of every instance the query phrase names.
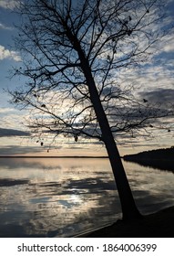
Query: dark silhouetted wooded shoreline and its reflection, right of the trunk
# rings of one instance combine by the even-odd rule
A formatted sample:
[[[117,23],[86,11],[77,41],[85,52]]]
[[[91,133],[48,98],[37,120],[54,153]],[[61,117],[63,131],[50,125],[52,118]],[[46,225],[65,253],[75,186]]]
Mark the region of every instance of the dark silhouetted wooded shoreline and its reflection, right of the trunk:
[[[149,166],[174,173],[174,146],[140,152],[134,155],[124,155],[125,161]]]

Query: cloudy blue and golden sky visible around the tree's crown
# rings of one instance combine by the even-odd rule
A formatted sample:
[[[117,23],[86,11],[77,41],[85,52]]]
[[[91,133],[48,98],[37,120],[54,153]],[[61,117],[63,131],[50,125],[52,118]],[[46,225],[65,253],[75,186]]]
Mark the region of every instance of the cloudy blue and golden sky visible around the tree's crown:
[[[16,109],[10,103],[10,95],[21,80],[11,79],[11,69],[22,61],[20,52],[14,49],[15,25],[18,16],[13,13],[14,0],[0,0],[0,155],[107,155],[102,144],[81,140],[78,143],[67,139],[57,144],[41,146],[36,143],[25,126],[28,112]],[[166,22],[174,24],[174,0],[169,0],[166,9]],[[173,101],[174,99],[174,35],[169,34],[160,42],[160,50],[148,65],[139,72],[129,74],[128,79],[144,85],[142,97],[148,101]],[[134,154],[140,151],[170,147],[174,145],[174,119],[165,120],[169,124],[169,133],[157,130],[154,136],[118,140],[120,155]],[[173,123],[173,124],[172,124]],[[162,127],[162,123],[160,125]]]

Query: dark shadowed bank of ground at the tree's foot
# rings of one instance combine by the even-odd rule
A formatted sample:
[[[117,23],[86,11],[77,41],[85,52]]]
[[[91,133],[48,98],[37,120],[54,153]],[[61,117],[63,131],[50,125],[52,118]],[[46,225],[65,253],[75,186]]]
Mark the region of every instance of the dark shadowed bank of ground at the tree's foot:
[[[118,220],[112,226],[86,234],[90,238],[174,238],[174,207],[149,214],[138,221]]]

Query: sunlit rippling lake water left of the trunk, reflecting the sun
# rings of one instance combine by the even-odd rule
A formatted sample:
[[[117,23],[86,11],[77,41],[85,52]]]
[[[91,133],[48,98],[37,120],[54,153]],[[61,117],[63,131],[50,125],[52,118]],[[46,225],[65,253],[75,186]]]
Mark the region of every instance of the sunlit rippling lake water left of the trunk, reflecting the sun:
[[[9,236],[9,229],[15,237],[72,236],[120,213],[106,161],[7,160],[0,170],[1,236]]]

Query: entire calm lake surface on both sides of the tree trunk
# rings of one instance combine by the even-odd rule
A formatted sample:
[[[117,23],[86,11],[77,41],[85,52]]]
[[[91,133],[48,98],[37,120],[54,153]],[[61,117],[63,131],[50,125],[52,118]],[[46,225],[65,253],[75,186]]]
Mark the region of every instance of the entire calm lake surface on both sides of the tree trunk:
[[[124,162],[142,213],[174,205],[174,175]],[[0,159],[0,237],[71,237],[121,217],[107,159]]]

